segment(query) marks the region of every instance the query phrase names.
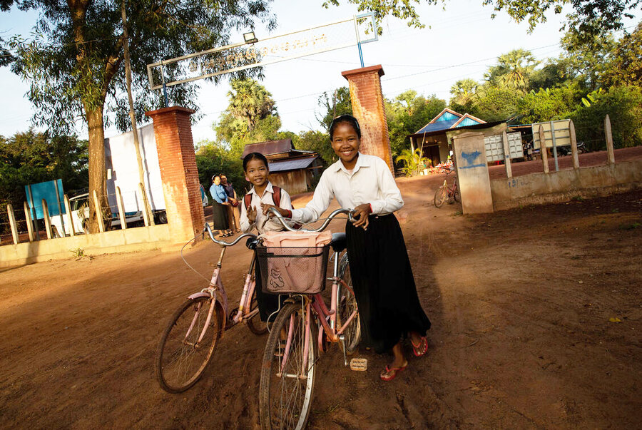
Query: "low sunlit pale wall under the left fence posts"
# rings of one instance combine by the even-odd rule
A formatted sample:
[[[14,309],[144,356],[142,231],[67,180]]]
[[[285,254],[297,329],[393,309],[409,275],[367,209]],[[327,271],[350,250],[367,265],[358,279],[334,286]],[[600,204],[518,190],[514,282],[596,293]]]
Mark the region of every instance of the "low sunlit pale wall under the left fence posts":
[[[172,245],[174,242],[170,241],[167,224],[111,230],[93,235],[2,245],[0,246],[0,267],[70,258],[74,255],[73,250],[78,248],[83,250],[84,255],[100,255],[152,250]]]

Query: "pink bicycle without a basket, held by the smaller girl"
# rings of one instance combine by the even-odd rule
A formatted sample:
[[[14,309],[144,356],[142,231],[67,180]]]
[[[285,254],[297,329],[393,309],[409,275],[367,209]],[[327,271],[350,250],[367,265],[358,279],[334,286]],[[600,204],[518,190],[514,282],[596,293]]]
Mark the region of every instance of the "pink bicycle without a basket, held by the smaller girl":
[[[252,258],[244,277],[243,293],[238,307],[233,307],[229,314],[228,297],[220,278],[227,247],[236,245],[243,237],[249,237],[245,245],[248,249],[255,250],[258,238],[256,235],[245,233],[233,242],[223,242],[214,238],[207,223],[202,234],[205,233],[223,248],[210,283],[200,292],[190,295],[188,300],[178,307],[163,331],[161,342],[156,349],[156,379],[161,387],[170,393],[183,392],[198,382],[212,358],[218,339],[223,336],[225,330],[242,322],[247,324],[254,334],[267,332],[267,325],[260,320],[256,302],[253,276],[255,258]]]

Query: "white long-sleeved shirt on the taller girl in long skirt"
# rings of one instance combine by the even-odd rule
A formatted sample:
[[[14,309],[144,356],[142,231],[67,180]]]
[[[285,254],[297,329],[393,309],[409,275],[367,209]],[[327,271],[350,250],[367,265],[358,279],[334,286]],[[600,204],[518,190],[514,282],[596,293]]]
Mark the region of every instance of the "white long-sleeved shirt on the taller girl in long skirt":
[[[301,223],[318,220],[330,206],[332,198],[337,198],[344,209],[370,203],[374,215],[387,215],[404,206],[401,192],[386,162],[362,153],[359,153],[352,172],[341,160],[330,165],[321,175],[310,203],[305,208],[292,210],[292,220]]]

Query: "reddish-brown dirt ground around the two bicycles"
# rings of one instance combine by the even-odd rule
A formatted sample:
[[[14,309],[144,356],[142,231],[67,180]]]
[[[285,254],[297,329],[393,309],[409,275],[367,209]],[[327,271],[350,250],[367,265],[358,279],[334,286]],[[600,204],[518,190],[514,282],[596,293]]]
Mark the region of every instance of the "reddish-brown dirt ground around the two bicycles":
[[[443,180],[399,180],[427,357],[384,383],[389,356],[362,350],[369,369],[352,372],[333,346],[310,428],[639,428],[642,190],[464,216],[432,205]],[[209,277],[219,250],[185,258]],[[226,254],[232,299],[249,261],[243,245]],[[266,337],[246,327],[226,332],[189,391],[154,379],[161,330],[206,284],[178,250],[0,270],[0,427],[258,428]]]

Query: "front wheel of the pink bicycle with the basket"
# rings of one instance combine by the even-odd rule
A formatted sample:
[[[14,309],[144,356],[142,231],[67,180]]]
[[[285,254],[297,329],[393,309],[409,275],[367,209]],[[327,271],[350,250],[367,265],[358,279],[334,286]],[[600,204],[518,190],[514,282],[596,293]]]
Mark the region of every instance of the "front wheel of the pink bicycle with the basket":
[[[259,389],[261,428],[303,429],[307,424],[315,387],[317,360],[316,326],[310,324],[310,342],[305,350],[305,316],[301,304],[286,304],[272,325],[267,337]],[[290,349],[286,351],[286,341]]]

